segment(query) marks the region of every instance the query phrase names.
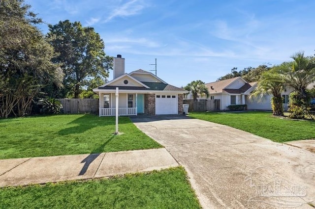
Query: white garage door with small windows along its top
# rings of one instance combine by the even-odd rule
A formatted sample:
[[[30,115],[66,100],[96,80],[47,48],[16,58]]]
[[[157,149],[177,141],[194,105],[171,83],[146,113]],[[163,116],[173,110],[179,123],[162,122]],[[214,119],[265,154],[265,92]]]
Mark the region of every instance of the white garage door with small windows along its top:
[[[177,95],[157,94],[156,114],[157,115],[178,114]]]

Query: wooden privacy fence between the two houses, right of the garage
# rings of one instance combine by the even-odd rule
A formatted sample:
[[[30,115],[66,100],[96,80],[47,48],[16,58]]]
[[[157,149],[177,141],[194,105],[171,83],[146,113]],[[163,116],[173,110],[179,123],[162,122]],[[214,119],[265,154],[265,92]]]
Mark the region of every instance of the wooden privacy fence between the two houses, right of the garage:
[[[220,100],[184,100],[184,104],[189,104],[189,112],[219,111]]]

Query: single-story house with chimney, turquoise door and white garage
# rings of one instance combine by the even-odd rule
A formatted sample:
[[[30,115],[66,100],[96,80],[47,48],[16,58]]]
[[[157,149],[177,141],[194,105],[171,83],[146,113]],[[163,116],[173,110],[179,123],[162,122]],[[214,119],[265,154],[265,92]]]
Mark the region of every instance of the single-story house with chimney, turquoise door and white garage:
[[[119,88],[119,115],[183,114],[186,90],[144,70],[125,73],[125,58],[118,54],[114,57],[114,79],[93,89],[99,95],[99,116],[115,115],[116,87]]]

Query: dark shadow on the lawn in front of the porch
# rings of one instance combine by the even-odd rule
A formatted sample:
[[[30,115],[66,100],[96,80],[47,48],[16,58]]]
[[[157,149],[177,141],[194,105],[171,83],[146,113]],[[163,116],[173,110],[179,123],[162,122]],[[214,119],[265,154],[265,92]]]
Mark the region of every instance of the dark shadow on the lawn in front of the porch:
[[[120,117],[119,124],[131,123],[126,117]],[[68,135],[72,133],[83,133],[95,127],[115,126],[115,117],[99,117],[96,115],[83,115],[70,123],[69,125],[76,125],[58,131],[60,135]]]

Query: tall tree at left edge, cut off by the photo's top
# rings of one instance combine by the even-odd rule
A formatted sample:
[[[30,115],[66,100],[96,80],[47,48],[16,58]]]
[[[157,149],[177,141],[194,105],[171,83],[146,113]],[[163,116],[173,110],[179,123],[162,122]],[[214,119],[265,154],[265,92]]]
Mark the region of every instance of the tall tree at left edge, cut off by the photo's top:
[[[30,113],[40,89],[63,77],[30,7],[24,0],[0,1],[0,117]]]

